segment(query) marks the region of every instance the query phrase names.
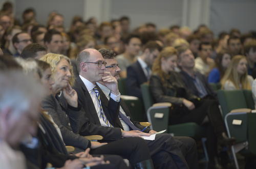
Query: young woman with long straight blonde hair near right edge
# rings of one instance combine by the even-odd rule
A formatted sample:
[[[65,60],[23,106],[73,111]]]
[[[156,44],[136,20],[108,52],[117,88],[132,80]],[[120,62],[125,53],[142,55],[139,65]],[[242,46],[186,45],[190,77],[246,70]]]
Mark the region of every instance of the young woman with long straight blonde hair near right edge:
[[[224,90],[247,89],[251,90],[253,78],[247,74],[247,60],[244,55],[232,58],[221,85]]]

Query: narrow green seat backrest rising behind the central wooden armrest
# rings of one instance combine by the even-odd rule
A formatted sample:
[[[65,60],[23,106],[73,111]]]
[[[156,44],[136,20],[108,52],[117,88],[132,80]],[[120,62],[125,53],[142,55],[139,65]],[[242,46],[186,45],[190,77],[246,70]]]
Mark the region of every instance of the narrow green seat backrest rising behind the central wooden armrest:
[[[142,93],[145,111],[147,111],[147,109],[150,108],[154,104],[153,97],[150,92],[150,86],[148,85],[148,83],[143,83],[140,86],[140,89],[141,89],[141,93]]]

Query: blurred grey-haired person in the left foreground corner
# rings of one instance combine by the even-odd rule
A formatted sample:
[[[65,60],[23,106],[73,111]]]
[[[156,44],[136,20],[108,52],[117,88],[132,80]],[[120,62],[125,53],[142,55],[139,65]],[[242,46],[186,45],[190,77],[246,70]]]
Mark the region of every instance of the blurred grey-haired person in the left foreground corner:
[[[33,77],[17,70],[2,71],[0,86],[1,167],[30,168],[17,148],[27,134],[36,133],[37,112],[44,92]]]

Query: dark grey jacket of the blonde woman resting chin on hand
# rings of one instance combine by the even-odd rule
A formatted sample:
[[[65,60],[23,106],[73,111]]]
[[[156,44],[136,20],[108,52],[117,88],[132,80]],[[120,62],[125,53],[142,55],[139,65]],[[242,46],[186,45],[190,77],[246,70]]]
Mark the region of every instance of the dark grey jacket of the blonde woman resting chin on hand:
[[[58,96],[57,96],[58,97]],[[77,119],[77,115],[80,115],[81,108],[74,108],[69,106],[63,99],[58,98],[59,101],[50,95],[44,101],[42,101],[42,108],[49,112],[54,122],[60,128],[63,141],[67,146],[74,146],[80,149],[86,149],[91,147],[91,142],[83,136],[73,132],[72,127],[76,128],[77,123],[71,123],[71,119]],[[73,126],[71,126],[71,124]]]

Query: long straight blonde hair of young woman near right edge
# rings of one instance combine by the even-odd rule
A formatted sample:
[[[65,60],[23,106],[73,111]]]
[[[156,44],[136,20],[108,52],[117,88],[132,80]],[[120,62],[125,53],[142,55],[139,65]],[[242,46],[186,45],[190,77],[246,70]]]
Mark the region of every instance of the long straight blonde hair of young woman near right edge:
[[[243,75],[239,75],[237,71],[238,64],[242,59],[246,60],[246,57],[244,55],[236,55],[232,58],[223,78],[221,79],[222,89],[226,81],[231,81],[236,89],[251,89],[250,82],[247,78],[247,69]]]

